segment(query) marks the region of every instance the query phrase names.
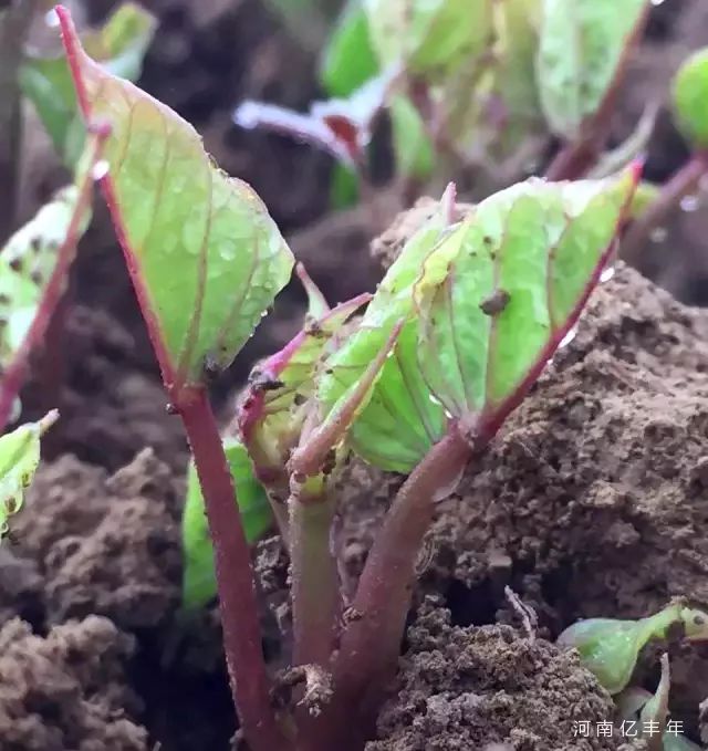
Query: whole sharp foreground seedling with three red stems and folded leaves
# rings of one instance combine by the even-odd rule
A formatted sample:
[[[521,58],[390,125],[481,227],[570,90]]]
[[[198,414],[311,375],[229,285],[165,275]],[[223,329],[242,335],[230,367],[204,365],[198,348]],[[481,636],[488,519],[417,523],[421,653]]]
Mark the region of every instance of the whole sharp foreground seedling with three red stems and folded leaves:
[[[243,734],[254,751],[361,751],[396,665],[435,503],[568,342],[611,261],[638,169],[528,180],[461,221],[450,187],[371,301],[330,310],[301,272],[305,325],[259,365],[235,426],[236,484],[241,470],[260,481],[292,561],[295,669],[282,682],[303,680],[305,690],[277,713],[239,513],[246,503],[207,385],[251,335],[293,259],[253,191],[218,171],[174,112],[93,62],[69,13],[58,13],[83,115],[112,126],[100,182],[191,445]],[[350,451],[409,473],[351,603],[333,541],[336,478]]]

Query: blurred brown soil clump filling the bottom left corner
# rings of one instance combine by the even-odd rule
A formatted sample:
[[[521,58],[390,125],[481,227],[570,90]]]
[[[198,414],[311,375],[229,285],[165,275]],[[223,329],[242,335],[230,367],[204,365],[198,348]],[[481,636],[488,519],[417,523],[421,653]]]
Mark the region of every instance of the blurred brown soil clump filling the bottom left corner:
[[[0,630],[3,751],[146,751],[131,716],[139,702],[122,663],[133,639],[106,618],[55,626],[46,637],[13,618]]]

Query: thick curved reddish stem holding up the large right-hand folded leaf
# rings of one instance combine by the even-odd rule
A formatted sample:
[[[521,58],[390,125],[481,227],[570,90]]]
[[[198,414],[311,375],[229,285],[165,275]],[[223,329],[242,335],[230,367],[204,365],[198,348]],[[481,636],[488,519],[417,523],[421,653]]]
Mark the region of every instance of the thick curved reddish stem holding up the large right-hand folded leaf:
[[[333,703],[309,749],[358,749],[371,737],[396,667],[416,562],[435,503],[451,492],[471,456],[472,448],[452,425],[398,491],[366,560],[352,606],[354,617],[342,635]]]

